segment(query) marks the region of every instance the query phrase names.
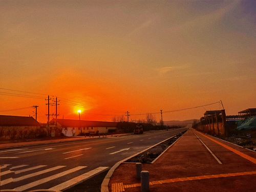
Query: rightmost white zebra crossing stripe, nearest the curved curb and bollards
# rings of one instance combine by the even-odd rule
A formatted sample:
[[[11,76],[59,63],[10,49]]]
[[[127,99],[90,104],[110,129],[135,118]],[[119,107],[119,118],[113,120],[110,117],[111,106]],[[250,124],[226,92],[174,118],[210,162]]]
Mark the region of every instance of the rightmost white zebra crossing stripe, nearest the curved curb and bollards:
[[[99,172],[102,172],[102,170],[106,169],[106,168],[109,168],[109,167],[98,167],[98,168],[95,168],[93,170],[91,170],[90,172],[87,172],[85,174],[82,174],[78,177],[75,177],[69,181],[66,181],[66,182],[63,182],[59,185],[56,185],[52,188],[49,188],[49,190],[56,190],[56,191],[61,191],[61,190],[66,190],[74,185],[77,185],[87,179],[89,179],[90,177],[94,176],[95,174],[99,173]]]

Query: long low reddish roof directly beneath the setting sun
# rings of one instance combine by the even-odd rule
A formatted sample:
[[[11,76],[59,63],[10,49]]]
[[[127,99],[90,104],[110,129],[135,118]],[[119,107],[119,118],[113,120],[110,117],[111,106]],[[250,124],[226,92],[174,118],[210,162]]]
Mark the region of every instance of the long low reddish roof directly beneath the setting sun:
[[[52,119],[51,122],[56,121],[61,126],[67,127],[116,127],[118,122],[108,121],[86,121],[86,120],[75,120],[75,119]]]

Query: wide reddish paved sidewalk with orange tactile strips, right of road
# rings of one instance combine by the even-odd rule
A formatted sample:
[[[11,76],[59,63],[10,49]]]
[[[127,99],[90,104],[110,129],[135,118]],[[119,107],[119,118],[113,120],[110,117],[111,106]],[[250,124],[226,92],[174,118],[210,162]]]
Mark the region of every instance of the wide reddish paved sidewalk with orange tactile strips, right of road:
[[[256,191],[256,153],[193,129],[153,164],[150,191]],[[136,163],[117,163],[101,191],[141,191]]]

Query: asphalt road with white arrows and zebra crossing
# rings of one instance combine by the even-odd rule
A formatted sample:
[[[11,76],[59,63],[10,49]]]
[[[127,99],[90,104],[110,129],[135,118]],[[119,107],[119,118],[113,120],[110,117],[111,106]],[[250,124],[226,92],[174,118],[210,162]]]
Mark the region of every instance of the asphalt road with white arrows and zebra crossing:
[[[0,190],[72,191],[77,184],[100,173],[106,174],[117,162],[185,130],[181,128],[0,150]]]

